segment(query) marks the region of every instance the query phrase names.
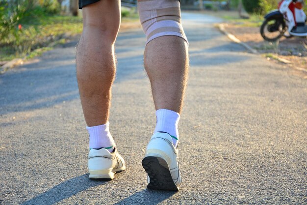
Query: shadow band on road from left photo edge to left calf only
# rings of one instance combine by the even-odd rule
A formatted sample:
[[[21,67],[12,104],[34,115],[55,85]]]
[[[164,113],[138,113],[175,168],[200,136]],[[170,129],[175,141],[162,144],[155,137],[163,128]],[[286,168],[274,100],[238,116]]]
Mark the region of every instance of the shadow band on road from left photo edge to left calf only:
[[[35,67],[35,64],[26,66]],[[69,64],[29,68],[1,76],[0,114],[41,109],[77,99],[75,73],[74,64]]]

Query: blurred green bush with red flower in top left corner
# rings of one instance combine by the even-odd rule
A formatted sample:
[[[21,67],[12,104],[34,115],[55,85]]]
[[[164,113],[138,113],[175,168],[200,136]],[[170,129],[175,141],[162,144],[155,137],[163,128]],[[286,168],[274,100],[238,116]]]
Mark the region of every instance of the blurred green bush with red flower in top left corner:
[[[56,0],[1,0],[0,57],[10,59],[10,56],[27,54],[40,47],[46,42],[43,25],[60,12],[61,6]]]

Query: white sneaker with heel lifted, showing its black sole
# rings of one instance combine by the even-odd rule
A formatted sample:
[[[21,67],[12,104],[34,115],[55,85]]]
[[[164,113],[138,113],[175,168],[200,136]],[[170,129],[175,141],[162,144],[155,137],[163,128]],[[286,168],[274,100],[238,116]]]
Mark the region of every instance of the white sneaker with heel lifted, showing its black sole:
[[[148,188],[178,191],[182,182],[178,150],[172,137],[156,132],[149,141],[142,165],[148,174]]]

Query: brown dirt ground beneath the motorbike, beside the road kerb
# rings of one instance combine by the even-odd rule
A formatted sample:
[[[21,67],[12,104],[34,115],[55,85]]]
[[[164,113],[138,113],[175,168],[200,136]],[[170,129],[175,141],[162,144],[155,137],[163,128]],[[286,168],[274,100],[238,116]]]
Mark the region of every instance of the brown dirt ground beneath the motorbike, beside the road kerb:
[[[274,54],[280,58],[290,60],[294,66],[307,69],[307,38],[282,37],[277,43],[263,40],[260,28],[240,27],[235,24],[224,24],[225,29],[239,40],[256,49],[264,55]]]

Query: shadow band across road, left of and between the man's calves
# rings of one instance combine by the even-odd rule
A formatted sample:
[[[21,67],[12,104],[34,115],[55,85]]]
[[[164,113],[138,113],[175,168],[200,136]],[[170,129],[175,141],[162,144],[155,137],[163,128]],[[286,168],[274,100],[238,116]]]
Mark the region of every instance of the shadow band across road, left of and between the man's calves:
[[[0,115],[43,109],[79,98],[75,56],[67,57],[64,65],[59,60],[60,54],[54,56],[51,59],[42,57],[39,62],[0,76]],[[115,83],[145,77],[142,53],[120,56],[118,62]]]

